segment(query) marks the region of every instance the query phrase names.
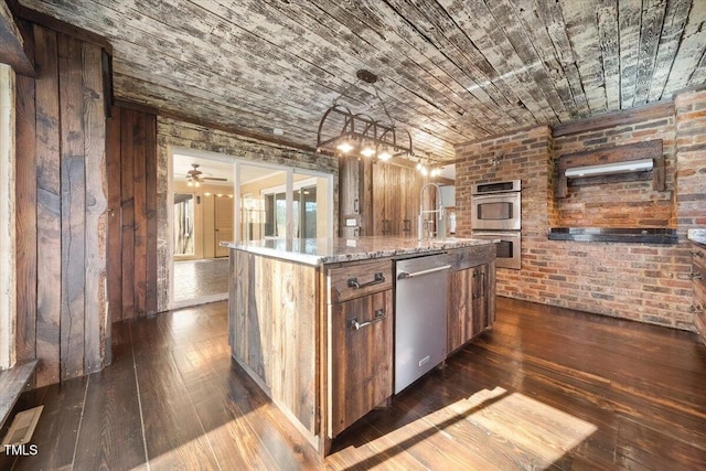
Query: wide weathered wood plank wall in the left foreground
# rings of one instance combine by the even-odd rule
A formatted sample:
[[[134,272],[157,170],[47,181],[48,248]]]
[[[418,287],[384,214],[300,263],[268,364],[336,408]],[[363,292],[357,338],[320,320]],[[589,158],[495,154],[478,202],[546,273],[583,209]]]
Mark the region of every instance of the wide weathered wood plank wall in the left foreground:
[[[106,362],[103,51],[23,26],[36,77],[18,77],[17,341],[43,386]]]

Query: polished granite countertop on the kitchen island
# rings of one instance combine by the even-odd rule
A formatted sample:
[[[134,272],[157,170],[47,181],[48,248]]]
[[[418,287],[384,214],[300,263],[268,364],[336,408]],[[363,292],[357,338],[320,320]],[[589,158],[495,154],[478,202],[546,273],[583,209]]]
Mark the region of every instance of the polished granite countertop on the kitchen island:
[[[396,257],[426,254],[461,247],[489,245],[498,240],[474,238],[447,238],[443,240],[371,236],[346,238],[296,238],[264,239],[244,243],[221,243],[224,247],[253,254],[299,261],[307,265],[335,264],[340,261],[366,260],[370,258]]]

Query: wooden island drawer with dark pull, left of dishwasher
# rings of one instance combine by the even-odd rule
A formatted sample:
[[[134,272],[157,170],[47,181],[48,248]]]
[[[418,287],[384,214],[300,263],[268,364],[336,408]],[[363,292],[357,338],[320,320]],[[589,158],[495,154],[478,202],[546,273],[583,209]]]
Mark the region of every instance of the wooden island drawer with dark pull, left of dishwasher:
[[[336,264],[329,268],[329,302],[342,302],[393,287],[389,258]]]

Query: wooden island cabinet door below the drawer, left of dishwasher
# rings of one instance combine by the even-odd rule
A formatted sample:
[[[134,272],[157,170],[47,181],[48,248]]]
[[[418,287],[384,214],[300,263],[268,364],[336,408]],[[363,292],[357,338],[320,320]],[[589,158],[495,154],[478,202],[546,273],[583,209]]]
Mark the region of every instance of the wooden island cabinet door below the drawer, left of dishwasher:
[[[330,427],[332,437],[393,394],[393,291],[330,310]]]

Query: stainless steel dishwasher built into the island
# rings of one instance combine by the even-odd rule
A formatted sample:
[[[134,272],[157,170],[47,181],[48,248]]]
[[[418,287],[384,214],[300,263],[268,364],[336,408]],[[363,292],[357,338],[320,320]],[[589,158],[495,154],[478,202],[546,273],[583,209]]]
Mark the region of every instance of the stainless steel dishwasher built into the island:
[[[450,266],[442,254],[395,263],[395,394],[446,358]]]

